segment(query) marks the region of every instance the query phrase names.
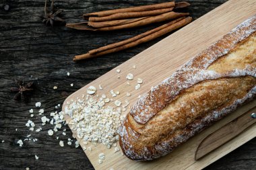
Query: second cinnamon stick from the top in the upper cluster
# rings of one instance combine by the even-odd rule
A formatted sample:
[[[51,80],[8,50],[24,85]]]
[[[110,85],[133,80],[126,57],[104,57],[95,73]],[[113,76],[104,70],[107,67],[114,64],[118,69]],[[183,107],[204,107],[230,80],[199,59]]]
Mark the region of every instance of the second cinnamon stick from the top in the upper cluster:
[[[172,11],[173,7],[164,8],[164,9],[156,9],[152,11],[139,11],[139,12],[125,12],[125,13],[114,13],[112,15],[108,15],[106,17],[89,17],[89,22],[106,22],[118,19],[127,19],[134,17],[148,17],[160,15],[162,13],[166,13]]]

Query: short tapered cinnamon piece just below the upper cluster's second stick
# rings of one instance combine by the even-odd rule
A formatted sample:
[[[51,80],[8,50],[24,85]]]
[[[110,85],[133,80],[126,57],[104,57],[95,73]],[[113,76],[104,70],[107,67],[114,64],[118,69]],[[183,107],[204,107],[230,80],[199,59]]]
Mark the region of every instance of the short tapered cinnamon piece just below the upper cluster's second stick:
[[[124,24],[129,24],[132,22],[137,22],[137,21],[139,21],[141,19],[145,19],[145,18],[147,18],[147,17],[120,19],[120,20],[106,21],[106,22],[88,22],[88,26],[92,26],[93,28],[120,26],[120,25],[124,25]]]

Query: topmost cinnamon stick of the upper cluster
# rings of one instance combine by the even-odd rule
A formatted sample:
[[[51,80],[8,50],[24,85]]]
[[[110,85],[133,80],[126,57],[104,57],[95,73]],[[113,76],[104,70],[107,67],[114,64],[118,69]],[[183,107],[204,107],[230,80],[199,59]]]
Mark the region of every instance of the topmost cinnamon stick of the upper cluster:
[[[94,12],[94,13],[86,13],[84,14],[84,17],[104,17],[108,15],[112,15],[114,13],[125,13],[125,12],[138,12],[138,11],[152,11],[155,9],[163,9],[163,8],[169,8],[169,7],[174,7],[175,3],[174,1],[172,2],[167,2],[167,3],[158,3],[154,5],[143,5],[139,7],[127,7],[127,8],[121,8],[121,9],[112,9],[112,10],[107,10],[107,11],[99,11],[99,12]]]

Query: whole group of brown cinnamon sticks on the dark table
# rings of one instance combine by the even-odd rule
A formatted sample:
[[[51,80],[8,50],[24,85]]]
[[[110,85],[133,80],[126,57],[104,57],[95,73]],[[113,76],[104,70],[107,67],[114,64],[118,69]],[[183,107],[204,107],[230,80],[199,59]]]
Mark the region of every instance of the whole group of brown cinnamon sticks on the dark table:
[[[66,26],[77,30],[113,31],[146,26],[148,24],[164,22],[167,20],[172,21],[133,38],[129,38],[128,40],[90,50],[87,54],[75,56],[73,60],[77,61],[85,58],[92,58],[131,48],[143,42],[154,40],[172,30],[181,28],[182,26],[189,24],[189,22],[192,21],[192,18],[188,16],[189,13],[178,13],[172,10],[188,7],[189,5],[190,4],[187,2],[175,3],[174,1],[171,1],[154,5],[86,13],[83,15],[84,19],[87,20],[86,22],[67,24]]]

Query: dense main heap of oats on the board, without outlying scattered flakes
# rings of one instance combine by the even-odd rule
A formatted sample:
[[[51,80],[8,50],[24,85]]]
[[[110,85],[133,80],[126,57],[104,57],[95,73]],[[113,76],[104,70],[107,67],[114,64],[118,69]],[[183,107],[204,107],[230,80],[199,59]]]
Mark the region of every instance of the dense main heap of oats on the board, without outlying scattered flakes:
[[[95,87],[90,86],[88,93]],[[106,97],[106,95],[102,95]],[[117,140],[117,130],[121,124],[121,108],[104,107],[106,99],[94,99],[92,95],[83,96],[82,99],[72,100],[65,107],[65,114],[69,115],[68,122],[72,130],[77,133],[77,138],[93,143],[105,144],[110,148]],[[108,102],[110,99],[108,100]],[[115,101],[117,106],[121,101]]]

